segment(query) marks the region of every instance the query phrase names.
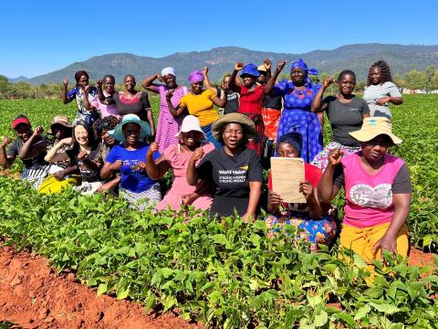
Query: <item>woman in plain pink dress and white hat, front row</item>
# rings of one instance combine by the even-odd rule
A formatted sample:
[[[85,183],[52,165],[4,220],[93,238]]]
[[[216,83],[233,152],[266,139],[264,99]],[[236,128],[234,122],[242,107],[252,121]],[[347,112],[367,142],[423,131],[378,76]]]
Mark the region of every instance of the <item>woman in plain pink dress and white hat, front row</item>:
[[[208,209],[213,202],[211,191],[203,184],[190,186],[187,184],[187,165],[194,150],[203,148],[208,154],[214,150],[213,143],[203,143],[205,134],[199,120],[193,115],[187,115],[183,120],[181,131],[176,133],[179,143],[168,146],[162,155],[153,160],[153,154],[159,149],[158,143],[151,143],[146,154],[146,171],[152,179],[160,179],[169,169],[172,169],[172,187],[158,204],[157,209],[171,207],[180,210],[181,207],[192,205],[195,209]]]

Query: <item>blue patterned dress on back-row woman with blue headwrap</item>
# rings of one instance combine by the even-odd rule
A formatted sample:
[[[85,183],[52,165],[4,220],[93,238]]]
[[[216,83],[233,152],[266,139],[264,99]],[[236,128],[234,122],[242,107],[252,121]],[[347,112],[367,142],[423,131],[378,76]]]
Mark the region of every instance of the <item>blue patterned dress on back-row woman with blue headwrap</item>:
[[[322,151],[322,133],[318,114],[310,111],[320,84],[306,82],[306,90],[297,90],[294,84],[282,80],[274,87],[276,95],[284,98],[284,110],[281,113],[276,140],[286,133],[297,131],[303,136],[301,157],[310,163]]]

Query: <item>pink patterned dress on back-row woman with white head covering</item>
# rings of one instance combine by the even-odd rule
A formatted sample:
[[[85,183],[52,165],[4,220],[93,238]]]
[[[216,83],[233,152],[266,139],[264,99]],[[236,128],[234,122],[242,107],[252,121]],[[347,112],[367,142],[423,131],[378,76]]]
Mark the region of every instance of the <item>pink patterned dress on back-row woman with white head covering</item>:
[[[166,94],[169,91],[169,88],[166,85],[162,84],[154,86],[160,94],[161,100],[160,115],[158,116],[158,126],[157,134],[155,136],[155,142],[160,144],[159,152],[162,153],[165,149],[167,149],[169,145],[178,143],[178,138],[175,137],[175,134],[180,131],[185,114],[181,114],[180,116],[175,118],[169,111],[169,108],[167,106]],[[181,98],[186,93],[186,87],[178,87],[176,90],[174,90],[171,99],[173,107],[176,108],[178,106]]]

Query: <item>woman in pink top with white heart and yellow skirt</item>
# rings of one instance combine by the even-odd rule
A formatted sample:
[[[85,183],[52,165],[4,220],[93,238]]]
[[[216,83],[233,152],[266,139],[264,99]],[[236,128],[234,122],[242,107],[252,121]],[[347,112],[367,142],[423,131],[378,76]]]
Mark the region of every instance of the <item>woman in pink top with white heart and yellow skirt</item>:
[[[406,257],[411,178],[404,161],[387,153],[401,139],[391,133],[391,122],[383,117],[365,118],[360,131],[349,134],[362,149],[347,158],[342,150],[330,150],[319,181],[319,200],[328,203],[341,187],[345,189],[341,246],[353,249],[369,264],[381,259],[381,249]]]

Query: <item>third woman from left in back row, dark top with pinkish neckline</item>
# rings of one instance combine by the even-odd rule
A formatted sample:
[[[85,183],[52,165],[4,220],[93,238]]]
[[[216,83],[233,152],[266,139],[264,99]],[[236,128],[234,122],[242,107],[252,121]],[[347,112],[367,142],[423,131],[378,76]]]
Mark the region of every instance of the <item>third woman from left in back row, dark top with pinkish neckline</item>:
[[[149,102],[146,91],[135,90],[135,77],[128,74],[123,78],[125,90],[115,91],[110,97],[103,97],[99,94],[99,101],[108,104],[116,104],[117,111],[121,116],[135,114],[142,121],[149,122],[151,126],[151,136],[155,134],[155,123],[153,122],[153,113],[151,103]]]

